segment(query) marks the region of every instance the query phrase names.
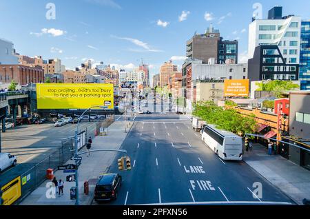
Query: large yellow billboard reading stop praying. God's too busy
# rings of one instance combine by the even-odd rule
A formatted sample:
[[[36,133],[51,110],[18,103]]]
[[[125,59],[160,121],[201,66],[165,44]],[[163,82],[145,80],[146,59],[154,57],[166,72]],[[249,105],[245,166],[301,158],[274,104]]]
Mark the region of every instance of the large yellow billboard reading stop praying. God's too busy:
[[[86,110],[99,105],[114,109],[113,84],[37,84],[39,110]]]

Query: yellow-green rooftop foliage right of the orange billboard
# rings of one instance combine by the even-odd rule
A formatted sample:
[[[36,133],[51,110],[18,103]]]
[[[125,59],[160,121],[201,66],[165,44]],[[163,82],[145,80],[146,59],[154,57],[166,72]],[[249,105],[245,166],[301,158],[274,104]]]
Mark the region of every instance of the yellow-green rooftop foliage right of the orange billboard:
[[[256,85],[258,85],[256,91],[273,92],[277,98],[280,98],[285,91],[296,90],[299,88],[299,85],[293,83],[293,81],[261,81],[256,83]]]

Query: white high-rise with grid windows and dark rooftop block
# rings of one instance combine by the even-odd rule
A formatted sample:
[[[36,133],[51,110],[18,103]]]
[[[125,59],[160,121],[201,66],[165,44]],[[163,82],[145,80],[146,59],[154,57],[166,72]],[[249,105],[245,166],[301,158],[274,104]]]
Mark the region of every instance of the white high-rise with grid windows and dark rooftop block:
[[[301,17],[282,17],[282,7],[269,10],[268,19],[256,19],[249,24],[249,59],[258,45],[278,45],[286,63],[298,64],[300,60]]]

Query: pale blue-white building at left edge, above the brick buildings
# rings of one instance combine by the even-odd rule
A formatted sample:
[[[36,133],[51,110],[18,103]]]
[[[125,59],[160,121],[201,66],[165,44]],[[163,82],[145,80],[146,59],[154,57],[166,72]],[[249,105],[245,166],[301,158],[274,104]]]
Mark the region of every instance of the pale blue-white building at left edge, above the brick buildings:
[[[18,63],[14,44],[5,39],[0,39],[0,65],[17,65]]]

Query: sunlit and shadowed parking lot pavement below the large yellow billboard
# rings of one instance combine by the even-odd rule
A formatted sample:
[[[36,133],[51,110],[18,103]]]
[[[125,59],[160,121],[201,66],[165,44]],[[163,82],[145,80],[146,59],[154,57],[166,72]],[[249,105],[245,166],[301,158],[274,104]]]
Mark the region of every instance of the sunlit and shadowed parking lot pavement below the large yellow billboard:
[[[94,132],[96,122],[81,122],[79,131]],[[1,133],[3,153],[17,156],[17,163],[40,162],[51,149],[61,147],[61,142],[74,137],[76,124],[54,127],[54,123],[43,125],[21,125]]]

